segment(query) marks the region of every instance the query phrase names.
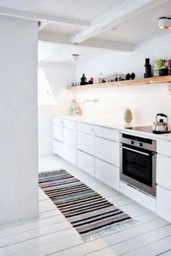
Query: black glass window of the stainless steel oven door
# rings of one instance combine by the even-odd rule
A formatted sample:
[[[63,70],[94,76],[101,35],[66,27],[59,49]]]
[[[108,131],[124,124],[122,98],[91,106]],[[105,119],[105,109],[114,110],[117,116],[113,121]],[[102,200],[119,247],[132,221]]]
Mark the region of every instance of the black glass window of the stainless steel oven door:
[[[152,157],[122,149],[122,173],[152,187]]]

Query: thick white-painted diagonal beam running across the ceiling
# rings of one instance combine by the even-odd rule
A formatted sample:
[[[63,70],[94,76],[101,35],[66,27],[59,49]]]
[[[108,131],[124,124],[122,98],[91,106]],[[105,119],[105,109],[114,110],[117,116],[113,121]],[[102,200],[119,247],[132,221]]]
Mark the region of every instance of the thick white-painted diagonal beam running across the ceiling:
[[[132,17],[164,4],[168,0],[126,0],[91,22],[91,26],[70,38],[72,44],[80,44],[93,36],[103,33]]]

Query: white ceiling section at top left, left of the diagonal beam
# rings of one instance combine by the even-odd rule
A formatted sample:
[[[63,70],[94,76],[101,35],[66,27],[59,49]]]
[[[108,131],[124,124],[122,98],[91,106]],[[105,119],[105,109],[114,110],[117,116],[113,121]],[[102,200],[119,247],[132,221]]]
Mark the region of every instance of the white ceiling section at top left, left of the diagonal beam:
[[[1,7],[74,20],[99,17],[125,0],[0,0]]]

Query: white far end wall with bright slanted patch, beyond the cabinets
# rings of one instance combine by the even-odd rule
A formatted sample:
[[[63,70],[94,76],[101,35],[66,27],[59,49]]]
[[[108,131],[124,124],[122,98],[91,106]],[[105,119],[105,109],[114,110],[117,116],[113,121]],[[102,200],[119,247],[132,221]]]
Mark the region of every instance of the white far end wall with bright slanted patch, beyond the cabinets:
[[[38,154],[52,154],[51,115],[69,115],[75,94],[66,87],[75,82],[75,65],[44,63],[38,67]]]

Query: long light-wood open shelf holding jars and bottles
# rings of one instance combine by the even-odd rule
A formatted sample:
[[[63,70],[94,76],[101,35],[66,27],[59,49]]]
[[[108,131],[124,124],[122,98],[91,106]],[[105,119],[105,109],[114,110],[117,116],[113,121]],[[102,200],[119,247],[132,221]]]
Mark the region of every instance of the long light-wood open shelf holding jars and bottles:
[[[118,82],[109,82],[109,83],[94,83],[88,84],[86,86],[69,86],[67,90],[83,90],[90,88],[105,88],[105,87],[114,87],[114,86],[138,86],[141,84],[151,84],[151,83],[171,83],[171,75],[159,76],[156,78],[143,78],[135,80],[122,80]]]

